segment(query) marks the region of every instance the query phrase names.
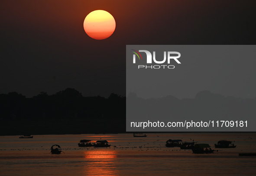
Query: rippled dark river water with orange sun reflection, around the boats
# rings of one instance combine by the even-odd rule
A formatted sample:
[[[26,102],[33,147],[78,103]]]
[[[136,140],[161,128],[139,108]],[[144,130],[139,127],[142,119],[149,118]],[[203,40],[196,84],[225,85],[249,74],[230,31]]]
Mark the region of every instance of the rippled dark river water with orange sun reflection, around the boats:
[[[178,175],[254,176],[256,157],[239,153],[256,152],[256,133],[149,133],[0,136],[0,176],[87,176],[87,175]],[[81,139],[107,140],[108,148],[81,148]],[[191,150],[166,148],[168,139],[208,143],[235,141],[237,148],[219,149],[213,154],[193,154]],[[62,154],[50,154],[52,145]]]

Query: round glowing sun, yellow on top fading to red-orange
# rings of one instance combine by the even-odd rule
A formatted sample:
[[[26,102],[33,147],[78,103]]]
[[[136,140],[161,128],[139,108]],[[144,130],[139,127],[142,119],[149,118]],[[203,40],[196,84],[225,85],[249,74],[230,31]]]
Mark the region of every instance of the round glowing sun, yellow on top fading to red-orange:
[[[84,31],[96,40],[110,37],[115,28],[116,21],[114,17],[105,10],[94,10],[84,19]]]

